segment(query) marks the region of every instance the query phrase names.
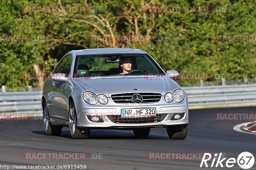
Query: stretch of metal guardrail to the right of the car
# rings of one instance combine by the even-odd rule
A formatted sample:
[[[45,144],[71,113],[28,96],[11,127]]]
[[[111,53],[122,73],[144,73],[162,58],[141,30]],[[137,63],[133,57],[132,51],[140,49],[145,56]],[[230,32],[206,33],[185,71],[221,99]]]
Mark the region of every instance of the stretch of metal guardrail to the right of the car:
[[[184,87],[188,107],[218,108],[256,106],[256,84]]]

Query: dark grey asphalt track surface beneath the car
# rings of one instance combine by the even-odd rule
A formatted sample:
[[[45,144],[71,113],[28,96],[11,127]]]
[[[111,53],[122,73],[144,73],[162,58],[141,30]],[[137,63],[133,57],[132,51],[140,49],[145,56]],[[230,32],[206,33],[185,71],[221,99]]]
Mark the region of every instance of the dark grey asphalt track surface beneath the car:
[[[147,159],[145,155],[222,152],[226,158],[236,159],[241,152],[251,152],[256,158],[256,136],[233,130],[236,124],[249,121],[212,118],[215,113],[256,113],[255,108],[189,110],[189,129],[185,140],[169,139],[165,128],[152,128],[147,137],[135,137],[132,130],[92,130],[89,139],[72,139],[68,128],[62,129],[60,137],[46,136],[42,120],[1,120],[0,165],[86,165],[86,169],[242,169],[237,163],[232,168],[225,165],[224,168],[200,168],[201,159],[159,160]],[[26,153],[64,152],[88,153],[91,159],[30,160],[24,157]],[[96,155],[101,159],[92,159]],[[256,169],[256,163],[251,169]]]

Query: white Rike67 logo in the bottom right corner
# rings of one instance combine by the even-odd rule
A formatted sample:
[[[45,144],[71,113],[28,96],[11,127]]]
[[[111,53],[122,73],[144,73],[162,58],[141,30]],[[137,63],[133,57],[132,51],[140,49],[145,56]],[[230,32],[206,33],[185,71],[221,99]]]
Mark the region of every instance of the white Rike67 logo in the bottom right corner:
[[[223,158],[221,159],[222,153],[218,154],[215,153],[214,157],[212,159],[212,154],[211,153],[204,153],[203,159],[201,161],[200,167],[203,167],[203,165],[205,167],[208,167],[207,161],[208,163],[210,162],[210,159],[212,159],[212,163],[209,165],[210,167],[224,167],[224,160],[227,158]],[[217,159],[216,163],[215,160]],[[254,156],[250,153],[250,152],[242,152],[238,155],[237,159],[235,158],[229,158],[226,160],[226,163],[224,164],[226,167],[230,168],[233,167],[235,164],[237,164],[243,168],[243,169],[249,169],[254,165]]]

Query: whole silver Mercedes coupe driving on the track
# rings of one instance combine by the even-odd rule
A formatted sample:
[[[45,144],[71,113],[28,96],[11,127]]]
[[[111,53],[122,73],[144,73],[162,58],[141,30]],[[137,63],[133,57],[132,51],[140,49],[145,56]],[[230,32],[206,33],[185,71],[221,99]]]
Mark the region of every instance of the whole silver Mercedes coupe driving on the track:
[[[173,78],[140,49],[73,50],[45,80],[44,131],[59,136],[68,127],[73,138],[91,129],[133,130],[147,136],[164,127],[171,139],[188,133],[188,98]]]

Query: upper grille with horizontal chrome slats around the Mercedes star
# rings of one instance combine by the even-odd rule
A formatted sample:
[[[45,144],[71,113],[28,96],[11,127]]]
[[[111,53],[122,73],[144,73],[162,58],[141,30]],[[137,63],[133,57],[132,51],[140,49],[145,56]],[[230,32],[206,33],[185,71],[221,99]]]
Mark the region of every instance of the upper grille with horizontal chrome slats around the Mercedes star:
[[[118,104],[129,104],[129,103],[138,103],[137,101],[132,101],[132,96],[134,94],[139,94],[142,97],[141,103],[156,103],[160,101],[160,93],[124,93],[124,94],[113,94],[111,95],[112,100]]]

